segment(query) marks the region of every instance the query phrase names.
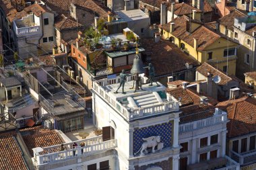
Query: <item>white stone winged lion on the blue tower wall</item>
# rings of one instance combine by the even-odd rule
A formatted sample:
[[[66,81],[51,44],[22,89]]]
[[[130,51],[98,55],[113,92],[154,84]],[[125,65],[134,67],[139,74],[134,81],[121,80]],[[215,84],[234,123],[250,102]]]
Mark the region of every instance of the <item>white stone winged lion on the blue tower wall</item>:
[[[152,147],[152,153],[155,153],[155,147],[158,146],[158,142],[160,142],[161,136],[151,136],[148,138],[142,138],[142,140],[144,140],[145,142],[143,142],[143,144],[141,145],[141,148],[139,148],[139,151],[140,151],[139,156],[145,155],[143,151],[145,151],[145,153],[148,153],[147,148],[150,148],[150,147]],[[139,151],[137,151],[137,153],[139,153]],[[135,155],[137,155],[137,153],[135,153]]]

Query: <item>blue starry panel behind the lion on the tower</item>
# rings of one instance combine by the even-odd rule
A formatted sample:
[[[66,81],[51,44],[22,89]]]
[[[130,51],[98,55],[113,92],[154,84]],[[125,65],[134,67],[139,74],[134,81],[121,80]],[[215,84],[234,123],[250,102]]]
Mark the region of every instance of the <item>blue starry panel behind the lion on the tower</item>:
[[[146,128],[136,128],[133,132],[133,153],[139,151],[142,138],[150,136],[161,136],[161,142],[164,142],[164,148],[171,146],[172,142],[172,123],[156,124]]]

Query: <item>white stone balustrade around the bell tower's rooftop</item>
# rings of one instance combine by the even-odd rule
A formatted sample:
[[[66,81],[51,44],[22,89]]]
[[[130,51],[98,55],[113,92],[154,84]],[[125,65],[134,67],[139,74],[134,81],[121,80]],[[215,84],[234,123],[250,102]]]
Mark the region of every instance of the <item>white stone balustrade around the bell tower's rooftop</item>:
[[[165,103],[152,104],[152,106],[147,108],[137,108],[137,109],[127,109],[121,103],[115,99],[111,99],[108,92],[105,91],[96,81],[93,82],[93,90],[100,95],[102,98],[113,106],[113,108],[127,120],[134,120],[141,117],[150,116],[152,114],[160,114],[164,112],[179,111],[179,102],[173,101],[172,99],[166,101]]]

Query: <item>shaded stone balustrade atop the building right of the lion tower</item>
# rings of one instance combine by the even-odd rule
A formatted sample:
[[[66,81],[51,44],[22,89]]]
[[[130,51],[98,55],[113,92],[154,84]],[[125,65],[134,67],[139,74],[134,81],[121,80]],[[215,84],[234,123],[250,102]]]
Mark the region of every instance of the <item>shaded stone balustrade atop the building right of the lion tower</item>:
[[[203,113],[200,113],[200,114],[203,114]],[[216,108],[214,115],[210,118],[205,118],[205,119],[196,120],[196,121],[189,121],[188,123],[185,123],[185,124],[179,124],[179,133],[189,132],[192,130],[197,130],[199,128],[212,126],[212,125],[220,124],[227,121],[228,121],[228,118],[227,118],[226,112],[222,112],[222,110],[219,110],[218,108]]]

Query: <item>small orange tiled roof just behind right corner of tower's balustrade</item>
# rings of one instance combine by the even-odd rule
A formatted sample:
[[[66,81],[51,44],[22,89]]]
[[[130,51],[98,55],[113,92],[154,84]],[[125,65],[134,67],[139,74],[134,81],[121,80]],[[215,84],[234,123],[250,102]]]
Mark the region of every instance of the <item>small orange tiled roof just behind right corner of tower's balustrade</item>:
[[[187,91],[183,88],[177,88],[177,89],[168,89],[167,91],[172,95],[175,99],[180,100],[181,107],[187,106],[187,105],[193,105],[193,99],[189,96]]]

